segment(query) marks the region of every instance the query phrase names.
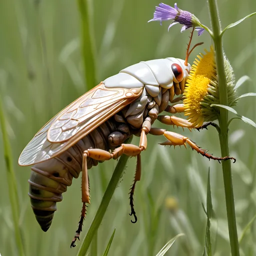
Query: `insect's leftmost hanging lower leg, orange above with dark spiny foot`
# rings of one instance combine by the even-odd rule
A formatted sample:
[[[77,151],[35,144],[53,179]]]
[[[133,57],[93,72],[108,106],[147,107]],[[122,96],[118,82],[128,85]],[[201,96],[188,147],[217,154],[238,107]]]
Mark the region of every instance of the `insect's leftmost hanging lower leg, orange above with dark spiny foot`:
[[[86,211],[86,205],[85,203],[90,203],[89,200],[89,180],[88,180],[88,170],[87,170],[87,156],[88,152],[84,151],[82,154],[82,185],[81,185],[81,191],[82,191],[82,210],[81,210],[81,217],[78,222],[78,228],[75,231],[74,238],[71,242],[70,248],[75,247],[75,241],[76,239],[79,240],[80,232],[82,231],[82,225],[83,220],[85,218],[85,211]]]

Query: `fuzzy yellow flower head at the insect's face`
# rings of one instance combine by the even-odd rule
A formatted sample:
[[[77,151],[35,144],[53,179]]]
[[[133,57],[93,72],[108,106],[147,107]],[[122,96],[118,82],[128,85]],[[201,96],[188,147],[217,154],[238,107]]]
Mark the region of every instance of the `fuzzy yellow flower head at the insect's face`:
[[[213,121],[218,117],[218,109],[211,104],[219,104],[218,82],[214,49],[204,49],[195,58],[183,93],[185,115],[194,127],[202,125],[204,121]],[[228,102],[235,98],[233,70],[228,60],[224,60],[227,80]]]

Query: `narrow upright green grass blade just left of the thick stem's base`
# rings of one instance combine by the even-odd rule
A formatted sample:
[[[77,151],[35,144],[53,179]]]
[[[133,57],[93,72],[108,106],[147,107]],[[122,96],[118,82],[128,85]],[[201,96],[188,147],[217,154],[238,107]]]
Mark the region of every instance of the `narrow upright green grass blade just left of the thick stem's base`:
[[[210,191],[210,168],[208,170],[207,179],[207,196],[206,196],[206,231],[205,231],[205,247],[208,256],[211,256],[211,239],[210,239],[210,218],[212,214],[212,202],[211,202],[211,191]]]

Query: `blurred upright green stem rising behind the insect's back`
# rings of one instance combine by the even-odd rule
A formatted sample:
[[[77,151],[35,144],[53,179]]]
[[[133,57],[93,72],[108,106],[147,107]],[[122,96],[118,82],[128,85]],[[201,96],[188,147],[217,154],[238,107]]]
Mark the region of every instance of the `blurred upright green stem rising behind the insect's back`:
[[[84,67],[84,80],[86,89],[96,85],[94,37],[90,25],[88,0],[77,0],[81,16],[81,51]]]

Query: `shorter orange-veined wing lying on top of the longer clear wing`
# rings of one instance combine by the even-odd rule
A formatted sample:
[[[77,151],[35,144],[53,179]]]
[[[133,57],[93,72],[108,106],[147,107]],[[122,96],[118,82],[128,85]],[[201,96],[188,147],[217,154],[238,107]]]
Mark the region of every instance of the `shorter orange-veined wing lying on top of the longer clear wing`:
[[[85,98],[64,109],[48,129],[47,139],[53,143],[78,140],[103,121],[134,100],[139,89],[106,88],[103,83]]]

